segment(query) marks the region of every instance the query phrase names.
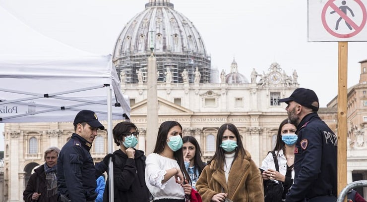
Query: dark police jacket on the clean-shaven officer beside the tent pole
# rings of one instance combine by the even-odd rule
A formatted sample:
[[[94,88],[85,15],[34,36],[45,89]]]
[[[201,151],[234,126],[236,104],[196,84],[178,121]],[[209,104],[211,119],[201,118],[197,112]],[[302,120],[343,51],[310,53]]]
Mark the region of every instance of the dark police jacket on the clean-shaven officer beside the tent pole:
[[[78,134],[62,147],[58,158],[58,187],[60,194],[71,202],[94,201],[97,197],[96,179],[107,170],[102,162],[94,165],[89,153],[92,145]]]

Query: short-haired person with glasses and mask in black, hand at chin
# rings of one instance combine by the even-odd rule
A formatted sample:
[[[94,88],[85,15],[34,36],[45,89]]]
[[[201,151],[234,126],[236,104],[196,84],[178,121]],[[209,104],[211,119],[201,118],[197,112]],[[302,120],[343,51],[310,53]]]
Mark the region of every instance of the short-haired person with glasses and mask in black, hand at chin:
[[[146,157],[143,151],[134,149],[139,136],[137,127],[131,122],[120,122],[114,127],[113,135],[120,146],[113,159],[115,202],[148,202],[150,193],[144,178]],[[109,202],[108,183],[103,201]]]

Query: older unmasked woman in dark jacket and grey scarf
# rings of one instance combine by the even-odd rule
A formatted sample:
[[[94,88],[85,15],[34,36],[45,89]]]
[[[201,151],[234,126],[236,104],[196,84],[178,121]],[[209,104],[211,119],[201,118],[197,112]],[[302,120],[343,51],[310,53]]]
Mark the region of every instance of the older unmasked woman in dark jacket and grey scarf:
[[[25,202],[57,202],[58,181],[56,179],[56,164],[60,149],[50,147],[45,151],[45,163],[34,169],[23,192]]]

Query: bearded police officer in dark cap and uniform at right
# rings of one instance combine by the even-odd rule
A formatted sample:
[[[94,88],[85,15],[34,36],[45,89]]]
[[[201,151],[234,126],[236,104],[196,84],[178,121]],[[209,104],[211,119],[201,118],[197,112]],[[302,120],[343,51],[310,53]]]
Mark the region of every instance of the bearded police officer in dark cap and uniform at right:
[[[315,92],[298,88],[280,102],[288,104],[288,117],[297,126],[298,135],[295,181],[286,202],[335,202],[338,141],[317,114],[319,103]]]

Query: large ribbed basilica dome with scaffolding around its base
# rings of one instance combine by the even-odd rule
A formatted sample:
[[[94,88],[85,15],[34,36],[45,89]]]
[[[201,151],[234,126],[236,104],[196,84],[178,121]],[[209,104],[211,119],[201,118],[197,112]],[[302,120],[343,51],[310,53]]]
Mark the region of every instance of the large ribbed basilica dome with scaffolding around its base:
[[[116,42],[113,59],[119,72],[124,71],[126,83],[137,83],[136,71],[146,77],[146,60],[154,49],[158,81],[165,80],[169,69],[173,82],[187,69],[189,82],[198,67],[200,83],[210,82],[210,57],[200,33],[192,22],[174,9],[169,0],[149,0],[145,10],[136,14],[122,29]]]

